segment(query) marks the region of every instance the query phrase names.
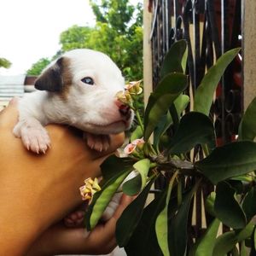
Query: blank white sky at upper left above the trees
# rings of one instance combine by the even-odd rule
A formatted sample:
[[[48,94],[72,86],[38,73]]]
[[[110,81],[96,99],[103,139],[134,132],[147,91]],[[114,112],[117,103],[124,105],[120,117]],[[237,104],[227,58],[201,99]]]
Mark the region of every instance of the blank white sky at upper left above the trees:
[[[94,26],[89,0],[1,0],[0,57],[12,62],[0,75],[24,74],[43,57],[61,49],[61,32]]]

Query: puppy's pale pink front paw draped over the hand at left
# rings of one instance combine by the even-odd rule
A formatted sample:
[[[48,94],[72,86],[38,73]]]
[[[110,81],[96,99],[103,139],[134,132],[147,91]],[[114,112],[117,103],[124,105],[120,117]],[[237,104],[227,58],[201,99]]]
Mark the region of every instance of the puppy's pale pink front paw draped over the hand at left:
[[[18,123],[15,126],[14,133],[16,137],[21,137],[22,143],[32,152],[45,154],[46,150],[50,148],[48,132],[41,124]]]

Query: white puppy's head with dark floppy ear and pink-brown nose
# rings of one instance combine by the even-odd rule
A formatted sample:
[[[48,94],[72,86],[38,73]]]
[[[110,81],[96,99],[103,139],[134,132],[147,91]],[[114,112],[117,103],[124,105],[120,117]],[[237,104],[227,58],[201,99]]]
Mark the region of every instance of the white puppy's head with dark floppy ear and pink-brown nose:
[[[60,120],[84,131],[110,134],[130,128],[133,113],[116,99],[125,79],[113,61],[91,49],[73,49],[47,67],[35,83],[48,90]]]

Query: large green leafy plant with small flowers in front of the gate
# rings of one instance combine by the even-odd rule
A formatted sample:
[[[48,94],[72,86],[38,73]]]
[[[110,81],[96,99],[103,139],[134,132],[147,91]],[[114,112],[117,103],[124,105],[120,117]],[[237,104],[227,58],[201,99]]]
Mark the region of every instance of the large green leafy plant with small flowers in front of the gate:
[[[102,164],[102,189],[85,214],[87,229],[96,226],[123,183],[126,195],[137,195],[117,223],[116,238],[127,255],[256,255],[256,100],[241,119],[237,139],[223,146],[217,144],[210,113],[219,79],[240,50],[227,51],[207,70],[188,109],[186,42],[172,44],[143,121],[138,118],[139,129],[131,134],[128,146],[133,145],[133,150],[125,157],[111,155]],[[126,90],[119,100],[126,99],[138,115],[135,91],[139,90]],[[136,147],[133,140],[142,137],[144,143]],[[131,172],[137,176],[125,180]],[[165,185],[147,205],[150,188],[158,179]],[[194,198],[206,187],[212,188],[204,198],[207,227],[195,234]]]

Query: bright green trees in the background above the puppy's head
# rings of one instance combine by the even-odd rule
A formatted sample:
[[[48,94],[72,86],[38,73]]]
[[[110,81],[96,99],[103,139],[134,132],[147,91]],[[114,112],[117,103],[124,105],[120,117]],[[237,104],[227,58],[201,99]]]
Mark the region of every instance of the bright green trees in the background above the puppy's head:
[[[42,58],[27,71],[38,75],[50,61],[70,49],[89,48],[109,55],[125,79],[143,77],[143,5],[129,0],[90,0],[96,26],[72,26],[61,32],[61,50],[52,58]]]

